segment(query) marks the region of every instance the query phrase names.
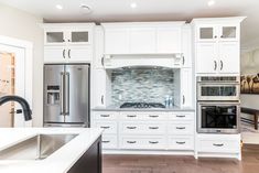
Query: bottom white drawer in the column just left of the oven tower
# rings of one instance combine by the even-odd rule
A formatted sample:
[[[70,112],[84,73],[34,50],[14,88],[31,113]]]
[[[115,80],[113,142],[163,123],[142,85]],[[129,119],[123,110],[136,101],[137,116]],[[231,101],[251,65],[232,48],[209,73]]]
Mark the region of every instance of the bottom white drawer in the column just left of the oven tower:
[[[193,137],[169,137],[169,149],[172,150],[194,150]]]

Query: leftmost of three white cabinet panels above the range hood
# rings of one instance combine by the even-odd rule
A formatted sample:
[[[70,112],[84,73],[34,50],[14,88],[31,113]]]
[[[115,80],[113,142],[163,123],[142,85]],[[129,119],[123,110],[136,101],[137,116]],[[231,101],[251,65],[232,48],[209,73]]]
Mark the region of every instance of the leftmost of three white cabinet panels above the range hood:
[[[129,29],[105,29],[105,54],[129,53]]]

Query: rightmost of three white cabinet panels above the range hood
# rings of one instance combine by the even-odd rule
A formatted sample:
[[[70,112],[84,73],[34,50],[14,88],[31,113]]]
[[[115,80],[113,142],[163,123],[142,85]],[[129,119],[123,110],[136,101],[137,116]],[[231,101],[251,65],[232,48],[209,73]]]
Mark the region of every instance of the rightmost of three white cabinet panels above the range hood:
[[[182,28],[158,28],[157,32],[158,53],[182,53]]]

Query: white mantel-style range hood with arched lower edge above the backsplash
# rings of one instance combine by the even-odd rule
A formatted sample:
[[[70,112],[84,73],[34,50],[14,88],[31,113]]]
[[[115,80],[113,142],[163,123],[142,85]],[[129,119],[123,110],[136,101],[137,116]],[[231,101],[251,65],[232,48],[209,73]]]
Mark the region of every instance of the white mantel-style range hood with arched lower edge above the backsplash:
[[[183,61],[182,54],[121,54],[105,55],[102,64],[107,69],[138,66],[181,68]]]

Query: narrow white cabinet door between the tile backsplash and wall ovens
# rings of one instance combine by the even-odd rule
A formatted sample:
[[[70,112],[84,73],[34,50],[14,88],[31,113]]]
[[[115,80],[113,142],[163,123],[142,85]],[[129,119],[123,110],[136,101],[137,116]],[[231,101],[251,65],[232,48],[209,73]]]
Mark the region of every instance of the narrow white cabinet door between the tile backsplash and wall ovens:
[[[181,107],[192,108],[193,107],[193,71],[192,68],[181,69]]]

